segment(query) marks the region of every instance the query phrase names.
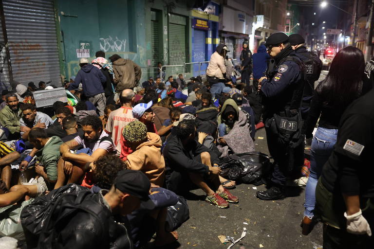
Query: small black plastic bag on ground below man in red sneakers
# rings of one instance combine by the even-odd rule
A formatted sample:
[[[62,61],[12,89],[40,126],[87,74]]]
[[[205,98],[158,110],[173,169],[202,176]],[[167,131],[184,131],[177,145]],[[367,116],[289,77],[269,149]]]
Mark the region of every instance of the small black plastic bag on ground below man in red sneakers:
[[[178,196],[178,202],[168,207],[165,230],[175,231],[189,219],[189,208],[185,198]]]

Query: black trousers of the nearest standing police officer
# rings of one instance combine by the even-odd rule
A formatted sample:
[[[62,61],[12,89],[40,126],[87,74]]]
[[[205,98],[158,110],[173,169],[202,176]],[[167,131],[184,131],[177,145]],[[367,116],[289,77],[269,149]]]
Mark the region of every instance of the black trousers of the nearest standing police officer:
[[[267,147],[274,159],[271,181],[273,184],[283,187],[287,177],[291,176],[292,171],[303,164],[304,143],[293,149],[286,148],[279,141],[279,136],[274,134],[270,128],[265,127],[265,131]]]

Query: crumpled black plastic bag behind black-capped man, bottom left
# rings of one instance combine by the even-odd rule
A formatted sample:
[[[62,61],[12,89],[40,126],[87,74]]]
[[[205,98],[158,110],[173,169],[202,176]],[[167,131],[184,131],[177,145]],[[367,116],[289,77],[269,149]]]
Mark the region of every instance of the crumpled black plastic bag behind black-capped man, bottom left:
[[[28,247],[36,247],[40,232],[59,196],[68,193],[78,195],[79,192],[87,190],[86,187],[69,184],[52,190],[48,195],[35,198],[32,203],[23,208],[20,219]]]

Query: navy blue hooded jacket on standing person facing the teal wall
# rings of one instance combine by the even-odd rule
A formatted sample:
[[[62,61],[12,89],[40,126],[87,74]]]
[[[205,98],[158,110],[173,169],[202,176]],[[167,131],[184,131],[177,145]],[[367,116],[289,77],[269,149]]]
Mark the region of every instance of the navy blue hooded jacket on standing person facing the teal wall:
[[[104,92],[102,83],[106,81],[107,78],[98,68],[92,64],[87,64],[80,68],[75,76],[74,83],[70,84],[69,90],[78,88],[79,83],[82,83],[84,95],[90,98]]]

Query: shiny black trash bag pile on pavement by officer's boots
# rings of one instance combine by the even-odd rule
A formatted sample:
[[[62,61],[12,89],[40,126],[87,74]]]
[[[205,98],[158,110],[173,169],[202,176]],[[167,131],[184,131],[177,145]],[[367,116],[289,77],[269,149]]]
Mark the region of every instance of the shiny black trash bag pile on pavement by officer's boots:
[[[264,183],[271,165],[266,154],[254,151],[224,157],[219,167],[224,178],[258,186]]]

